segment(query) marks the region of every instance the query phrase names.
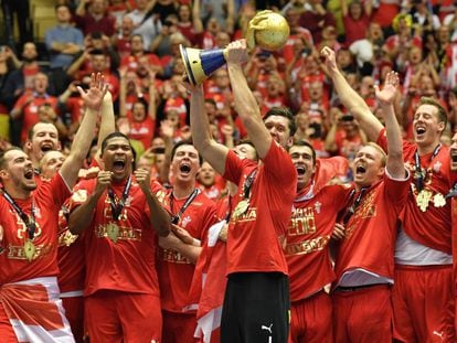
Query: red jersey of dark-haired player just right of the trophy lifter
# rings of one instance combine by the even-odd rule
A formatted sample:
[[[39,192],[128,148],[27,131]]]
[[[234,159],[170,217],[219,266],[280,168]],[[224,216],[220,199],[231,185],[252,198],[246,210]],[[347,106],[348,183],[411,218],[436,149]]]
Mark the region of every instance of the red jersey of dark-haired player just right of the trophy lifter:
[[[351,191],[350,185],[328,185],[316,196],[307,189],[295,200],[285,248],[290,301],[305,299],[334,280],[328,243]]]

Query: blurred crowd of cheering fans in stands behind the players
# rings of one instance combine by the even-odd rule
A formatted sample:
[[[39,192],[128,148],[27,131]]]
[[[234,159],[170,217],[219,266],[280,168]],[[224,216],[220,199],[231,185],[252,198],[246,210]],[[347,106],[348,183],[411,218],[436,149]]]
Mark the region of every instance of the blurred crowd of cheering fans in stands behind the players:
[[[164,139],[190,137],[179,45],[220,49],[243,37],[256,11],[281,12],[290,36],[281,51],[257,49],[245,65],[262,112],[289,107],[296,139],[318,157],[353,159],[365,141],[336,96],[319,51],[330,46],[350,85],[371,110],[374,85],[394,69],[402,88],[395,111],[412,138],[421,96],[448,109],[443,142],[457,131],[456,0],[4,0],[0,47],[0,149],[21,146],[38,121],[56,125],[64,147],[83,114],[76,86],[107,75],[116,124],[139,159],[161,163]],[[233,107],[227,72],[204,83],[212,133],[228,147],[246,136]],[[382,119],[380,117],[380,119]],[[350,176],[350,175],[349,175]]]

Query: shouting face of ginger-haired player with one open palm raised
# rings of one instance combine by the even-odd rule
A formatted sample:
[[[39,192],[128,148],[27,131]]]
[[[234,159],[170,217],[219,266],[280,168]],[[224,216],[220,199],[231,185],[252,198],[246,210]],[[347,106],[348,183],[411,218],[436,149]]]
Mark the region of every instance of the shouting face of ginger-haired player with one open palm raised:
[[[384,173],[382,156],[376,148],[365,146],[360,148],[353,161],[353,175],[357,185],[371,186]]]

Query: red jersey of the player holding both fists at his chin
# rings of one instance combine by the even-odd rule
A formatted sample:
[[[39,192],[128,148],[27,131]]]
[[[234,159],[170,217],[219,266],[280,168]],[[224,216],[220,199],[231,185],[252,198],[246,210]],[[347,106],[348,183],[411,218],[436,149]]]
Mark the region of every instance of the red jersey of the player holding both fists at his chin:
[[[117,199],[127,180],[113,183]],[[75,186],[70,207],[83,204],[95,190],[96,179],[84,180]],[[84,294],[109,289],[132,293],[159,294],[156,272],[157,235],[150,223],[150,211],[140,186],[132,178],[131,187],[119,221],[113,219],[108,191],[99,197],[91,226],[86,228],[86,285]],[[108,238],[108,224],[117,223],[118,239]]]

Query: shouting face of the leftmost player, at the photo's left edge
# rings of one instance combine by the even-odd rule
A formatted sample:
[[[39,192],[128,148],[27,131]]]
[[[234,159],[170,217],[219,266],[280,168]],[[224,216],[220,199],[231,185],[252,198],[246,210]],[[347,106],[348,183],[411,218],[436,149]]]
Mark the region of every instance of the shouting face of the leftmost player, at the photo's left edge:
[[[17,191],[33,191],[36,189],[35,173],[32,161],[22,150],[11,150],[4,156],[6,167],[0,171],[3,184]]]

